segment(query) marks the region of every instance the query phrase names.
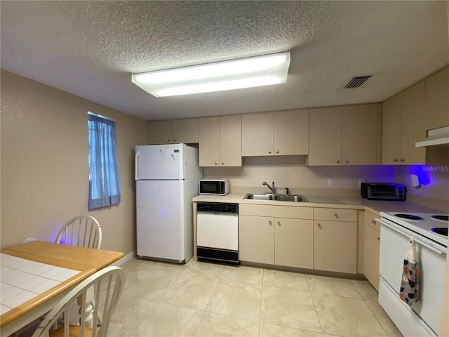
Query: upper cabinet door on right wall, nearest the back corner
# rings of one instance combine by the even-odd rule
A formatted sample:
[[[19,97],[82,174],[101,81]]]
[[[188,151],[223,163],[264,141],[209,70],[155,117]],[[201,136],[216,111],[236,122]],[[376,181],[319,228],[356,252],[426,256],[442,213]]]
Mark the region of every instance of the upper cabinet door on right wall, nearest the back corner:
[[[382,103],[382,164],[401,161],[401,100],[398,96]]]

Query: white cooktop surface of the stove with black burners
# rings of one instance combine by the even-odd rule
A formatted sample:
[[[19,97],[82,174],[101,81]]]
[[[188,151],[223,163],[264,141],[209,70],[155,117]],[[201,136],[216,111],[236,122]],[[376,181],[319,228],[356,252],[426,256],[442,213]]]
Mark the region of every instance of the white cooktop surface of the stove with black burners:
[[[380,216],[448,246],[449,215],[442,213],[381,212]]]

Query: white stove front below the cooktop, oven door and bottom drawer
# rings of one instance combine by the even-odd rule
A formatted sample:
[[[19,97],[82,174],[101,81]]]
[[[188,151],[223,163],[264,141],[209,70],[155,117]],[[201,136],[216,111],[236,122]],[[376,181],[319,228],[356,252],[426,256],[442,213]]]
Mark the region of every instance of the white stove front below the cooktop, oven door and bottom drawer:
[[[413,336],[413,333],[417,333],[417,328],[413,327],[416,322],[421,323],[421,329],[424,327],[429,332],[428,336],[436,336],[441,318],[447,248],[385,218],[379,221],[381,223],[379,274],[382,283],[379,303],[404,336]],[[410,238],[413,238],[420,257],[420,293],[415,305],[408,305],[399,299],[403,260],[410,249]],[[400,302],[399,307],[398,303],[391,303],[388,300],[393,296]],[[429,331],[429,327],[432,331]]]

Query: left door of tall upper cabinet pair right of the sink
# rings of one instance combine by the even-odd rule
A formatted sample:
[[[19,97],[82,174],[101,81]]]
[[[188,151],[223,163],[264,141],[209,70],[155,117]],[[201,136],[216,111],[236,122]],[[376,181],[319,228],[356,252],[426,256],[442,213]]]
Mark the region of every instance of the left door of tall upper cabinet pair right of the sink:
[[[309,165],[340,165],[342,108],[309,110]]]

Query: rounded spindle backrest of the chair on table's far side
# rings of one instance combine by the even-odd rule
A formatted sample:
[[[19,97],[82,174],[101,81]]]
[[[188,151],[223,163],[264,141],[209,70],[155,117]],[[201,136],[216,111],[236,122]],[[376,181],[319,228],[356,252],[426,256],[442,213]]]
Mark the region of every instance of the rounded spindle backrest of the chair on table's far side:
[[[65,223],[55,243],[100,249],[101,227],[93,216],[75,216]]]

